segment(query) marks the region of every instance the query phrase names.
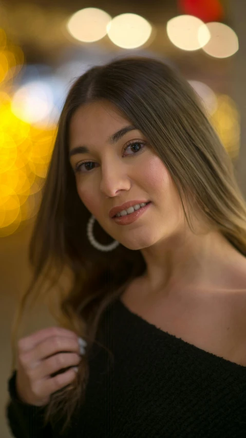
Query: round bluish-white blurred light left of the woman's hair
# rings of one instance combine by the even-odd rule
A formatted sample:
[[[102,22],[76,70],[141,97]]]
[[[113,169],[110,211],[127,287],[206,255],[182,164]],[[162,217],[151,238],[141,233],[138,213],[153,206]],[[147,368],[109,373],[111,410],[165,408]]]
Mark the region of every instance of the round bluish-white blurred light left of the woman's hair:
[[[42,82],[30,82],[14,94],[13,114],[29,123],[45,119],[53,108],[53,96],[50,88]]]

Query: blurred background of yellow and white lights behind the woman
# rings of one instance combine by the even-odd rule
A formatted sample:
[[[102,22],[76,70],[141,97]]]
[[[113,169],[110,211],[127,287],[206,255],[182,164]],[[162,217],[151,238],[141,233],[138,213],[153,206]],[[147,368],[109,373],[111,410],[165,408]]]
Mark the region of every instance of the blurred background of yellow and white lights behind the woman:
[[[240,0],[0,0],[0,436],[10,331],[30,280],[28,244],[72,82],[128,54],[178,68],[194,87],[246,196],[246,4]],[[55,322],[39,303],[24,335]]]

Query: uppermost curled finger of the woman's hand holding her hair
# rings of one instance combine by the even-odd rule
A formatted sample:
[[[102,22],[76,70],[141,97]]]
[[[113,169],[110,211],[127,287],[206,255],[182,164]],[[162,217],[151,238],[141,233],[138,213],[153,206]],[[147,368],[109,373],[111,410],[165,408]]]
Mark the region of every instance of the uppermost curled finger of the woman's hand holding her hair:
[[[68,336],[73,339],[77,339],[78,336],[71,330],[67,330],[63,327],[48,327],[43,328],[37,332],[32,333],[30,336],[26,336],[18,341],[18,349],[22,352],[32,350],[40,342],[48,339],[52,336]]]

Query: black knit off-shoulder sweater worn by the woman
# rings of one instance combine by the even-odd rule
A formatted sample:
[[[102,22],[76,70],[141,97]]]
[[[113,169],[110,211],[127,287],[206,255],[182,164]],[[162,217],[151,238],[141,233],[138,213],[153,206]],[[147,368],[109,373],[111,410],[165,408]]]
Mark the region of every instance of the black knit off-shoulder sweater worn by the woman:
[[[102,347],[91,350],[85,403],[66,436],[246,437],[246,367],[163,332],[120,299],[106,309],[98,333],[113,361]],[[13,436],[65,436],[42,427],[42,408],[17,400],[15,373],[9,393]]]

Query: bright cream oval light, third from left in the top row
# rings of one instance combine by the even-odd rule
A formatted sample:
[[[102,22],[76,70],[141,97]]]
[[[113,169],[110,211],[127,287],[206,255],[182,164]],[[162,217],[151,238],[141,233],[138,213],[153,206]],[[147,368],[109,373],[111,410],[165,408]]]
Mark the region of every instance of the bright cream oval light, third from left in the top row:
[[[209,29],[193,15],[174,17],[167,22],[166,31],[169,40],[183,50],[198,50],[210,40]]]

